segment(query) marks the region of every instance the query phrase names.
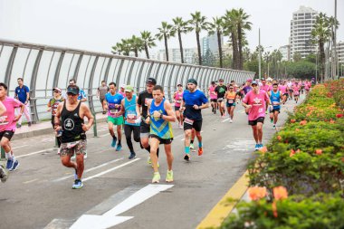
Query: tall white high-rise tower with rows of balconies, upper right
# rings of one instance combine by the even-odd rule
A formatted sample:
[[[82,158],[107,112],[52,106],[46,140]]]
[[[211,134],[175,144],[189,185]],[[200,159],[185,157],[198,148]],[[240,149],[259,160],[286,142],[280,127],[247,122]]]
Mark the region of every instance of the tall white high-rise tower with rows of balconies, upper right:
[[[300,9],[292,13],[291,19],[291,59],[298,52],[305,58],[311,52],[316,52],[316,46],[311,43],[311,30],[315,24],[318,12],[301,5]]]

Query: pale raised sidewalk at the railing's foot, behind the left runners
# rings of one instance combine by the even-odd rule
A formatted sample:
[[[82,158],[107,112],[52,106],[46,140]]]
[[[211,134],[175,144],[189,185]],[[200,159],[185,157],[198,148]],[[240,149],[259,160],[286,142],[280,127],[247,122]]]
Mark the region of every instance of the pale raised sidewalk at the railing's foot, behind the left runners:
[[[97,113],[96,121],[97,123],[104,122],[106,121],[107,117],[108,116],[106,114],[103,115],[102,113]],[[47,120],[33,124],[31,127],[24,125],[21,128],[15,129],[14,137],[12,139],[17,140],[22,138],[31,138],[51,133],[53,133],[52,122]]]

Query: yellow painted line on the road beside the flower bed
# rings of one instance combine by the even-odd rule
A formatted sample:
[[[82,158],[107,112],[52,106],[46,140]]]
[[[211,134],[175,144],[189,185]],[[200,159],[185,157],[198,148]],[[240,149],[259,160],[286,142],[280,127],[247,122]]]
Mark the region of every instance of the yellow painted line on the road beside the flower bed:
[[[235,205],[244,196],[249,182],[247,175],[248,171],[245,171],[244,175],[236,181],[234,186],[229,189],[225,196],[213,207],[210,213],[197,225],[196,229],[217,228],[222,224],[228,214],[232,212]],[[237,201],[228,202],[228,198],[234,198]]]

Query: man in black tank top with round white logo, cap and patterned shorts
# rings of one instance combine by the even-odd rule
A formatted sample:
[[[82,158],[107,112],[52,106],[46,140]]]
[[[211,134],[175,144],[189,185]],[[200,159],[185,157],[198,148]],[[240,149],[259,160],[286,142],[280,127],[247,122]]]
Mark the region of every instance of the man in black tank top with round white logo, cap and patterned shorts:
[[[60,156],[62,165],[73,167],[74,184],[72,189],[79,189],[83,186],[81,177],[84,163],[83,157],[86,153],[86,131],[93,124],[91,110],[85,103],[78,100],[79,87],[70,85],[67,88],[68,100],[61,102],[56,110],[55,130],[62,130]],[[88,124],[84,124],[84,118],[88,119]],[[71,160],[72,155],[76,155],[76,162]]]

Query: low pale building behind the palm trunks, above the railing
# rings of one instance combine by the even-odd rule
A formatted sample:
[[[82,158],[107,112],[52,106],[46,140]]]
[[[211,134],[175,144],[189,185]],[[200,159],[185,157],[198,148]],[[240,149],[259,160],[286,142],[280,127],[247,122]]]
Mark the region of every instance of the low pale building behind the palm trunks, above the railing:
[[[184,62],[195,64],[195,56],[197,53],[196,48],[183,49]],[[159,61],[167,61],[165,49],[159,50],[158,56]],[[168,49],[168,60],[169,62],[182,62],[181,54],[179,49]]]

